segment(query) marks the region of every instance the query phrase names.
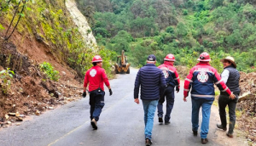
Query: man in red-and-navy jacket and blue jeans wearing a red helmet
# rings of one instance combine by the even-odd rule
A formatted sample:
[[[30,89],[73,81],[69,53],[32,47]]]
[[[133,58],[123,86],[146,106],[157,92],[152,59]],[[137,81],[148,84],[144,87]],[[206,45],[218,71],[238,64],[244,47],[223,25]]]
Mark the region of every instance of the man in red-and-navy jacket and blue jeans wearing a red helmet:
[[[192,87],[192,131],[196,136],[199,127],[199,110],[201,108],[201,143],[208,143],[207,134],[209,131],[211,107],[215,98],[214,84],[221,92],[228,93],[230,98],[235,98],[235,95],[225,85],[218,75],[218,71],[209,64],[211,59],[208,53],[201,53],[197,60],[200,62],[189,71],[189,75],[184,81],[183,101],[187,102],[186,98]]]

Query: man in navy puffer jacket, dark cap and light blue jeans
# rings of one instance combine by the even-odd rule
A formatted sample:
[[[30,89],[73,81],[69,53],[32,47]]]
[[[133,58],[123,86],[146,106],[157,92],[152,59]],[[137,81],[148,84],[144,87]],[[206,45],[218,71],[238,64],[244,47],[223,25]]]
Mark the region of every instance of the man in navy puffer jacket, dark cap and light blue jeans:
[[[155,66],[155,56],[148,56],[147,64],[137,72],[134,83],[134,102],[139,104],[138,94],[141,88],[141,99],[143,100],[145,143],[146,146],[152,144],[152,129],[154,125],[154,113],[160,94],[164,92],[166,86],[165,76],[159,68]]]

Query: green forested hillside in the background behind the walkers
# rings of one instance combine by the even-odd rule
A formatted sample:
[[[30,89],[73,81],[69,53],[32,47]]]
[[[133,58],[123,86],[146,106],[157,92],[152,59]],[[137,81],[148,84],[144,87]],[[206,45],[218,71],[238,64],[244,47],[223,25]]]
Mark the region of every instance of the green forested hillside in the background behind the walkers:
[[[174,53],[176,65],[195,65],[203,51],[221,71],[219,59],[231,55],[238,70],[255,71],[256,2],[247,0],[76,0],[98,44],[134,66],[148,53],[158,61]],[[160,63],[159,62],[159,63]]]

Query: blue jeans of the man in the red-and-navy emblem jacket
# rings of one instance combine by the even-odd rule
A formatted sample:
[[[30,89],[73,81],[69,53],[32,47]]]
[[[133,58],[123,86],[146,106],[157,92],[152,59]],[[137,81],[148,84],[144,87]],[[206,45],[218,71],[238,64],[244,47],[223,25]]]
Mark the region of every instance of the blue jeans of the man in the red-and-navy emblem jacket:
[[[199,110],[201,108],[201,138],[207,138],[212,102],[206,99],[192,99],[192,131],[197,132],[199,122]]]

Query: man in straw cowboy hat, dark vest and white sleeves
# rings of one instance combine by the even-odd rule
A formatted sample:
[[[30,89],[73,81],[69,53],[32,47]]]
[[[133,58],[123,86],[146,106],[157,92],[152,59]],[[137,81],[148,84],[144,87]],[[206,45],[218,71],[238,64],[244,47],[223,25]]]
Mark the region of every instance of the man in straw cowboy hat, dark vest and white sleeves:
[[[227,87],[230,88],[230,91],[236,95],[235,98],[230,98],[227,93],[221,92],[218,98],[218,111],[220,116],[221,124],[217,124],[217,127],[227,130],[227,120],[226,120],[226,111],[225,107],[229,107],[230,115],[230,126],[227,136],[233,138],[234,127],[236,124],[236,103],[238,101],[238,95],[240,93],[239,80],[240,73],[236,70],[235,59],[228,56],[220,60],[224,65],[224,70],[221,73],[221,78]]]

